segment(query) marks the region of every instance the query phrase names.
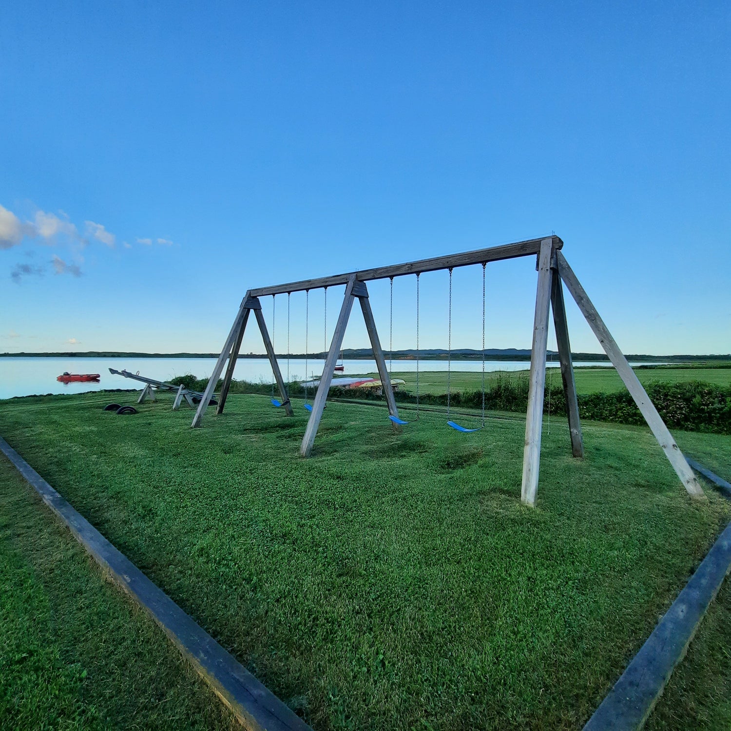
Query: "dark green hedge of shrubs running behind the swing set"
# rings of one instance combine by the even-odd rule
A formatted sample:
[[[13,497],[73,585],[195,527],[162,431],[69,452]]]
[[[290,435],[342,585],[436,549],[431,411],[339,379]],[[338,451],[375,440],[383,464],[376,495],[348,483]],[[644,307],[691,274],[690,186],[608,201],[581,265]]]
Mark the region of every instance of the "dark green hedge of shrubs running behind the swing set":
[[[410,376],[414,374],[393,374],[394,376]],[[428,374],[433,376],[433,373]],[[454,374],[455,379],[463,379],[466,374]],[[479,387],[480,374],[469,374],[477,379],[478,387],[460,387],[451,393],[451,405],[455,407],[480,409],[482,407],[482,390]],[[171,381],[175,385],[183,384],[187,388],[203,390],[207,381],[195,376],[179,376]],[[221,382],[219,381],[219,387]],[[268,383],[250,383],[233,381],[230,393],[270,393]],[[655,404],[660,416],[671,429],[684,431],[703,431],[716,434],[731,434],[731,386],[718,385],[702,381],[687,382],[650,382],[645,384],[648,395]],[[528,406],[529,381],[526,371],[518,373],[490,374],[485,379],[485,409],[490,411],[525,412]],[[289,393],[303,396],[305,391],[299,382],[289,385]],[[312,394],[312,391],[310,390]],[[314,395],[314,394],[312,394]],[[382,395],[376,395],[368,389],[330,390],[330,396],[336,398],[357,398],[366,401],[382,401]],[[413,384],[407,383],[406,389],[396,393],[400,403],[415,404],[417,396]],[[626,390],[612,393],[578,393],[579,414],[582,419],[607,421],[618,424],[641,425],[644,422],[640,409],[637,409],[632,396]],[[446,406],[447,393],[421,393],[419,403],[424,405]],[[546,387],[543,402],[545,414],[566,414],[566,399],[561,387],[553,382]]]

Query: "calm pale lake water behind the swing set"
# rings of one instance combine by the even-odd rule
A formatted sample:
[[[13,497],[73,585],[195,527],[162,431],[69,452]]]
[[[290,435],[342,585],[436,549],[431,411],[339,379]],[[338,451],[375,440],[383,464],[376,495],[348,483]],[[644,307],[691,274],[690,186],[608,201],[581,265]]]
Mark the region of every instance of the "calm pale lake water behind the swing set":
[[[126,369],[132,373],[140,372],[143,376],[159,381],[167,381],[175,376],[195,374],[199,378],[208,377],[216,360],[213,358],[48,358],[48,357],[0,357],[0,398],[27,396],[42,393],[83,393],[99,391],[105,388],[142,388],[142,384],[122,376],[110,374],[109,368],[117,371]],[[374,360],[345,360],[344,375],[374,373]],[[319,376],[322,360],[308,360],[305,372],[305,361],[292,359],[289,361],[289,378],[304,379],[306,376]],[[548,363],[557,367],[558,363]],[[640,363],[632,363],[638,366]],[[575,363],[575,366],[610,366],[609,363]],[[287,379],[287,359],[280,358],[279,367]],[[488,371],[522,371],[530,367],[527,360],[492,360],[485,362]],[[446,371],[447,364],[441,360],[423,360],[419,364],[421,371]],[[480,371],[482,363],[474,360],[452,361],[453,371]],[[415,371],[415,360],[394,360],[394,371]],[[98,373],[99,383],[69,383],[64,385],[56,380],[64,371],[85,374]],[[271,368],[265,358],[242,358],[236,363],[234,377],[246,381],[258,382],[271,380]]]

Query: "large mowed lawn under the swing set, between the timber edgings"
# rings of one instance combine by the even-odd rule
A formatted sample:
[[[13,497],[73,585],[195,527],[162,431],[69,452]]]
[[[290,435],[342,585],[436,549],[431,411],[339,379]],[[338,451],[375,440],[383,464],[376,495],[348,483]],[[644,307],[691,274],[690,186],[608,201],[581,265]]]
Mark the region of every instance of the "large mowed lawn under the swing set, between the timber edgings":
[[[686,496],[643,428],[585,423],[578,461],[552,417],[531,510],[515,414],[394,433],[377,406],[330,403],[303,460],[301,401],[287,418],[233,394],[192,430],[172,397],[130,417],[111,398],[6,401],[0,433],[318,730],[579,727],[731,519],[710,488]],[[731,474],[727,436],[675,436]],[[659,727],[723,718],[724,692],[683,686]]]

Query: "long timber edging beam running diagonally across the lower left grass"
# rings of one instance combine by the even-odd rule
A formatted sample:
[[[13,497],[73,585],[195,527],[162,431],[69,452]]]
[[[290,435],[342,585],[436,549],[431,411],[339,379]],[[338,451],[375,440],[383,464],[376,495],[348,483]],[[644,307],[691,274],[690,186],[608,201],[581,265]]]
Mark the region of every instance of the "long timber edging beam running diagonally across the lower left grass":
[[[251,731],[311,731],[299,716],[74,510],[2,437],[0,450],[102,569],[162,627],[243,727]]]

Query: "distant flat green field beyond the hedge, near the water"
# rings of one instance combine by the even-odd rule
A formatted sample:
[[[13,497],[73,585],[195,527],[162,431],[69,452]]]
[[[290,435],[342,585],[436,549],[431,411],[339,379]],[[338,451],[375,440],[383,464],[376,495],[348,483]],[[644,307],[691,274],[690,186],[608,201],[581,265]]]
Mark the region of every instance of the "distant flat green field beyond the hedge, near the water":
[[[527,364],[526,364],[527,366]],[[489,387],[491,380],[497,374],[511,378],[527,378],[528,371],[493,371],[485,374],[485,386]],[[637,368],[635,370],[640,382],[647,385],[657,381],[678,383],[688,381],[703,381],[721,386],[731,385],[731,368]],[[376,374],[371,374],[376,375]],[[406,381],[406,389],[413,392],[416,388],[416,374],[413,372],[398,371],[398,363],[393,368],[393,377]],[[614,368],[576,368],[576,390],[578,393],[612,393],[624,389],[624,384]],[[482,374],[464,371],[452,371],[452,390],[479,390]],[[549,385],[561,390],[561,371],[556,368],[548,369],[546,387]],[[447,393],[447,371],[422,371],[419,374],[420,393],[441,394]]]

